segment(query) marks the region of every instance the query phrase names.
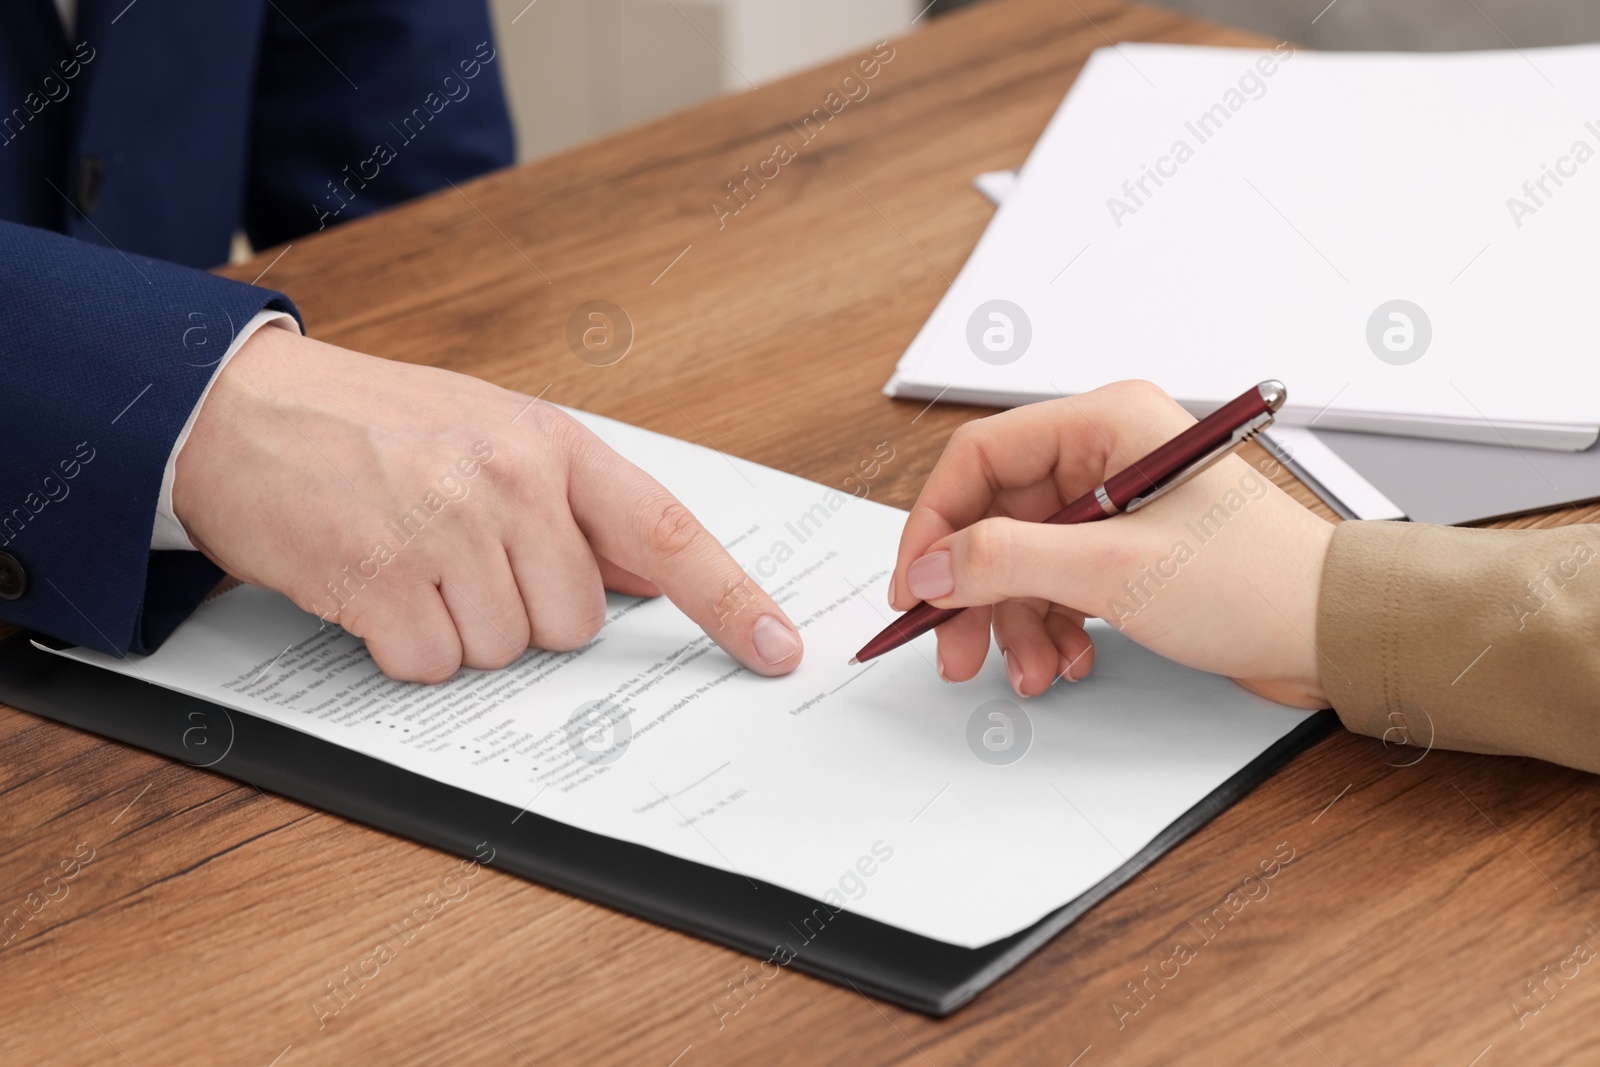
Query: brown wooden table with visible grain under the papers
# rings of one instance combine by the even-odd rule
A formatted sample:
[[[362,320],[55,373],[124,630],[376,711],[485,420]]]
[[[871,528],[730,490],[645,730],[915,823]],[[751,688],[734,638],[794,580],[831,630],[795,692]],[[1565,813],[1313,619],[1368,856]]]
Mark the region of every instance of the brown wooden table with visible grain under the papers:
[[[1262,43],[1110,0],[994,0],[896,42],[722,227],[709,202],[798,144],[846,59],[299,240],[264,283],[325,339],[818,482],[890,440],[875,496],[907,506],[982,414],[880,394],[989,222],[970,179],[1019,165],[1109,40]],[[621,363],[568,350],[590,299],[634,323]],[[747,958],[485,870],[318,1029],[310,1001],[454,859],[10,709],[0,736],[0,905],[93,856],[0,949],[6,1064],[1491,1067],[1578,1062],[1600,1008],[1600,966],[1550,979],[1542,1008],[1523,987],[1600,944],[1597,779],[1448,752],[1397,766],[1339,733],[946,1021],[786,973],[718,1027],[709,1003]],[[1130,997],[1286,849],[1266,897]]]

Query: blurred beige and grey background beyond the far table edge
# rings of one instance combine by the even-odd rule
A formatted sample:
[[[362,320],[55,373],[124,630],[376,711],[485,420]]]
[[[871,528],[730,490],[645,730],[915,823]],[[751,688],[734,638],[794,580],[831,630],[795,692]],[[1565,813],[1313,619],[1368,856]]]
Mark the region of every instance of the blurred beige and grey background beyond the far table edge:
[[[491,0],[523,160],[864,51],[986,2]],[[1600,40],[1597,0],[1160,0],[1158,6],[1328,50]]]

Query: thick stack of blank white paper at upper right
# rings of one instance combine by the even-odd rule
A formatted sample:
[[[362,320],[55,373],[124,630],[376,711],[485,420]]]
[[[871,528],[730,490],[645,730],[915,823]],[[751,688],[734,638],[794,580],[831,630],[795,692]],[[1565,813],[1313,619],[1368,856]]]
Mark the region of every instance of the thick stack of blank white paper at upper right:
[[[886,392],[1277,378],[1285,426],[1587,448],[1595,101],[1594,45],[1099,50]]]

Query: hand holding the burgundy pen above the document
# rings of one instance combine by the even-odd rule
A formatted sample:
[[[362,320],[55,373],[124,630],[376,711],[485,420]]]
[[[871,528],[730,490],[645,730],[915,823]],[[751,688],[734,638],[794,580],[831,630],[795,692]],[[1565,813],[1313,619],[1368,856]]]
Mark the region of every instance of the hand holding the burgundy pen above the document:
[[[1326,707],[1317,589],[1333,526],[1230,456],[1107,522],[1040,520],[1194,424],[1149,382],[1117,382],[968,422],[901,534],[891,606],[966,608],[939,673],[978,673],[994,630],[1019,696],[1094,664],[1102,617],[1170,659],[1294,707]]]

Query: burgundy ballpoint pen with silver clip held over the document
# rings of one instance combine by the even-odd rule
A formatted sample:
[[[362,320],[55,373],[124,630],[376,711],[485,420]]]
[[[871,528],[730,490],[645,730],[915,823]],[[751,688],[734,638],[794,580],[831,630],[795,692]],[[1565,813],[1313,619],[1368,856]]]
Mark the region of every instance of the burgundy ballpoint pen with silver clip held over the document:
[[[1136,512],[1155,498],[1176,490],[1216,461],[1230,454],[1261,430],[1283,406],[1288,390],[1280,381],[1266,381],[1229,400],[1149,456],[1106,478],[1046,518],[1054,526],[1093,523],[1123,512]],[[883,653],[949,622],[966,608],[934,608],[923,601],[883,627],[883,632],[856,653],[851,664],[864,664]]]

